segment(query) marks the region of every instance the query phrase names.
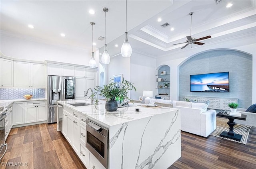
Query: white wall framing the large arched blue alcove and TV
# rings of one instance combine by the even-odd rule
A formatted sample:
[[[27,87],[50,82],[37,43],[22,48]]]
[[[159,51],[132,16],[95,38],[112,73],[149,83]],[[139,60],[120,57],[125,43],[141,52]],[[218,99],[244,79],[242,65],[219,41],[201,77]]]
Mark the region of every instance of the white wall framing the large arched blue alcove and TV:
[[[203,51],[212,49],[236,49],[252,55],[252,103],[256,103],[256,34],[244,35],[244,37],[234,37],[223,39],[212,44],[202,46],[194,45],[192,48],[180,49],[179,51],[156,59],[156,67],[168,65],[171,68],[170,95],[171,100],[179,98],[179,66],[187,59]],[[172,58],[172,59],[171,59]],[[200,65],[198,65],[200,66]],[[245,68],[246,69],[246,68]]]

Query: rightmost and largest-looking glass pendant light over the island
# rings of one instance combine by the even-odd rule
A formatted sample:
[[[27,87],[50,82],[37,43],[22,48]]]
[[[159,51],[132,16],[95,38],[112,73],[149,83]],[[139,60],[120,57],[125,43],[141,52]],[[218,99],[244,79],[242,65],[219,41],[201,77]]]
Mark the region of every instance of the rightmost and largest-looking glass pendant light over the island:
[[[121,47],[121,54],[123,57],[131,57],[132,55],[132,47],[128,42],[128,33],[127,33],[127,0],[126,0],[126,26],[124,33],[124,43]]]

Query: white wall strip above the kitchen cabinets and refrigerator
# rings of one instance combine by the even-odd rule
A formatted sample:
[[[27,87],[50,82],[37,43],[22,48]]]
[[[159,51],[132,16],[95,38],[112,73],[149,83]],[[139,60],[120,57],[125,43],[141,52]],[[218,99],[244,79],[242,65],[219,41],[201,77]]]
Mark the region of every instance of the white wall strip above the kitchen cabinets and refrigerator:
[[[88,65],[91,57],[91,51],[86,49],[39,43],[7,35],[1,35],[0,44],[4,55],[18,59]],[[98,55],[94,57],[98,63]]]

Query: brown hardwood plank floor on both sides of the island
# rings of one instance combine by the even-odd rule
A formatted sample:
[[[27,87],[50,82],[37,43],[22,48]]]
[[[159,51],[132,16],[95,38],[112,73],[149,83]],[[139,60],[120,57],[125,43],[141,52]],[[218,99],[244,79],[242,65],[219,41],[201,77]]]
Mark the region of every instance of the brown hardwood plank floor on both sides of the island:
[[[182,157],[168,169],[256,169],[256,127],[247,144],[209,136],[203,138],[181,133]],[[2,162],[22,162],[27,166],[2,166],[0,169],[83,169],[72,147],[56,124],[13,128],[6,140],[7,153]]]

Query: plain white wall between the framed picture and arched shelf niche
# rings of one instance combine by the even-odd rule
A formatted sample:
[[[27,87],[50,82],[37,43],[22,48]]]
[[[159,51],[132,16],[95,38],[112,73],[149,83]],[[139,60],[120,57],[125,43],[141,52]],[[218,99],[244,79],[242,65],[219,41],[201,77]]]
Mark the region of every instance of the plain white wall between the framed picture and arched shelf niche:
[[[155,68],[156,59],[133,53],[131,57],[131,82],[136,87],[136,92],[131,91],[131,98],[139,100],[143,90],[153,90],[153,96],[157,94]]]

